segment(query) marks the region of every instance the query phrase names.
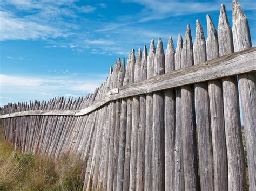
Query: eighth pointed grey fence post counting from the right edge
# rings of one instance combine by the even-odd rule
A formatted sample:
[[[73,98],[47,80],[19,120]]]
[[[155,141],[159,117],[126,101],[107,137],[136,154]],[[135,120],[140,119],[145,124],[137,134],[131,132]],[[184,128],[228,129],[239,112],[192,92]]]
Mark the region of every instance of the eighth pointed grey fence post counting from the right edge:
[[[165,55],[161,39],[158,39],[155,55],[154,76],[164,74]],[[153,143],[152,173],[153,190],[164,189],[164,93],[153,93]]]

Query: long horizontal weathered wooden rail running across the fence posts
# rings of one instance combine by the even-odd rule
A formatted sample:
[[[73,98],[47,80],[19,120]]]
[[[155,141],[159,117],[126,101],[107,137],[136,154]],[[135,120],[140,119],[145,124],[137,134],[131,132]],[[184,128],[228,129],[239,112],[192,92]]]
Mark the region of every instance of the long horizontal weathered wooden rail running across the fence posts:
[[[29,115],[62,115],[82,116],[102,107],[107,102],[125,97],[148,94],[154,91],[161,91],[188,84],[221,79],[232,75],[253,72],[256,70],[256,47],[245,51],[236,52],[222,56],[217,59],[206,61],[198,65],[175,70],[173,72],[152,77],[150,79],[115,88],[109,94],[90,107],[78,110],[30,110],[1,115],[0,118],[10,118]]]

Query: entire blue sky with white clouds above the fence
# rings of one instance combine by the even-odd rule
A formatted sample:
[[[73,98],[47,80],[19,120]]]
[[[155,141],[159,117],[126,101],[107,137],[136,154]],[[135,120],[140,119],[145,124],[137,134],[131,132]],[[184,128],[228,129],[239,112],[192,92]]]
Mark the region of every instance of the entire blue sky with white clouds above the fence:
[[[0,106],[9,102],[84,96],[105,81],[117,57],[169,35],[176,44],[196,19],[206,35],[206,14],[218,25],[220,4],[232,25],[232,1],[2,0]],[[255,46],[254,1],[240,1]]]

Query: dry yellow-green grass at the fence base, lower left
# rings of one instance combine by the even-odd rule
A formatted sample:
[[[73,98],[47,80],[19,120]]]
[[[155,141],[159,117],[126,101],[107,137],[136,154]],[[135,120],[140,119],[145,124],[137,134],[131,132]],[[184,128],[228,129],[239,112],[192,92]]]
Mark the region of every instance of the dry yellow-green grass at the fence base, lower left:
[[[16,151],[0,126],[0,190],[82,190],[81,171],[76,155],[55,160]]]

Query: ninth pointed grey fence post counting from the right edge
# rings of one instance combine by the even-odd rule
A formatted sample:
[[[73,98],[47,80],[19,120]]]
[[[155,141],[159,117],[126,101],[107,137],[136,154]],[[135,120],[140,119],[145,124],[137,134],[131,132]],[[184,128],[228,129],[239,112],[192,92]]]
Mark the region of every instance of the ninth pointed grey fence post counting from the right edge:
[[[154,56],[156,55],[156,48],[154,40],[150,41],[150,51],[147,56],[147,79],[154,75]],[[152,190],[152,128],[153,128],[153,95],[146,96],[146,129],[145,129],[145,178],[144,190]]]

